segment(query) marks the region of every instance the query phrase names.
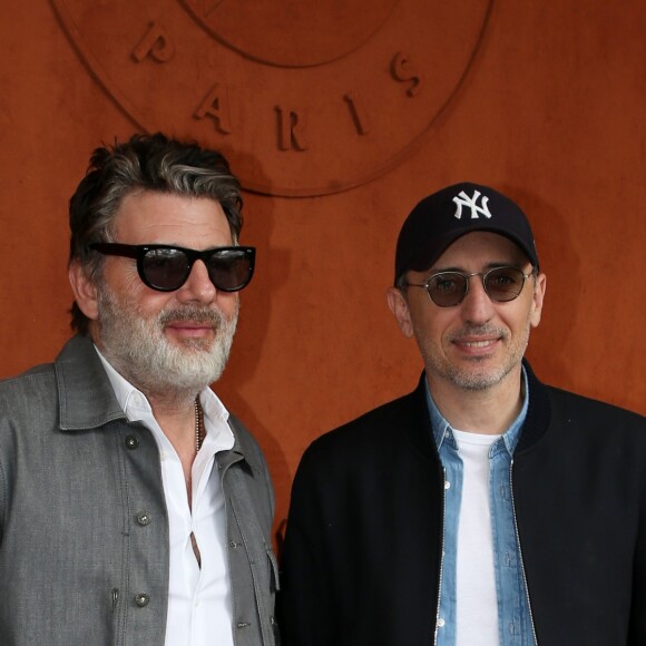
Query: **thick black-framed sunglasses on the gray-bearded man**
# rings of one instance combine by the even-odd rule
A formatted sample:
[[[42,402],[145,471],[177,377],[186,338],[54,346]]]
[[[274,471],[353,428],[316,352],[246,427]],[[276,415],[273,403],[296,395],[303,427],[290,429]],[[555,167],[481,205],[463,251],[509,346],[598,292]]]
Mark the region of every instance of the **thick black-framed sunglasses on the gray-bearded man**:
[[[145,285],[158,292],[179,290],[190,275],[195,261],[202,261],[211,282],[221,292],[237,292],[254,275],[255,247],[214,247],[198,252],[172,245],[125,245],[95,243],[90,249],[106,256],[137,261],[137,272]]]

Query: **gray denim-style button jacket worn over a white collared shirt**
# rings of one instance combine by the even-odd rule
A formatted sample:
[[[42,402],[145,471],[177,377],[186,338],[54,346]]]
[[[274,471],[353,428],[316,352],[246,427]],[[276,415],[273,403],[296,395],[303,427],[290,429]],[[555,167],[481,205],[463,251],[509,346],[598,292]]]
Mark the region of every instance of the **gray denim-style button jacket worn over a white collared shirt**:
[[[273,646],[273,490],[235,418],[216,454],[236,646]],[[163,645],[168,518],[150,431],[127,421],[87,337],[0,382],[0,644]],[[218,643],[217,635],[213,644]]]

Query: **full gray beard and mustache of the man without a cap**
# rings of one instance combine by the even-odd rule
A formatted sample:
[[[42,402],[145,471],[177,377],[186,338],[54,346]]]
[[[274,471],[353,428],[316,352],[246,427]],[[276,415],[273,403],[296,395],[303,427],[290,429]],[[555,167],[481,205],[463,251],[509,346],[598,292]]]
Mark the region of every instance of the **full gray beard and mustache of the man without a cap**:
[[[231,319],[219,310],[187,305],[144,317],[121,304],[102,286],[98,294],[99,337],[105,358],[143,393],[194,397],[217,381],[231,352],[237,325],[237,309]],[[215,339],[186,340],[170,344],[164,327],[172,321],[208,323]]]

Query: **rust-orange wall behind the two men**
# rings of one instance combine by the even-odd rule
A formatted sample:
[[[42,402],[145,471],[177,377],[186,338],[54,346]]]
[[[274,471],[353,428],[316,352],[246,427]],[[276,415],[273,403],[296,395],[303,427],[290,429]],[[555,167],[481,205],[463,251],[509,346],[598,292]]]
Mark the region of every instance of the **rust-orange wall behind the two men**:
[[[255,189],[243,241],[260,262],[216,390],[266,451],[278,519],[312,439],[414,385],[421,362],[384,292],[404,216],[452,182],[491,184],[534,222],[548,274],[538,374],[646,413],[646,4],[361,4],[315,42],[306,11],[330,28],[324,2],[222,27],[189,16],[197,0],[25,0],[0,23],[0,376],[51,360],[69,334],[66,209],[91,149],[137,127],[204,133]],[[170,33],[166,62],[131,56],[149,21]],[[399,51],[412,58],[393,68]],[[216,81],[229,133],[194,116]],[[285,106],[302,150],[280,129]]]

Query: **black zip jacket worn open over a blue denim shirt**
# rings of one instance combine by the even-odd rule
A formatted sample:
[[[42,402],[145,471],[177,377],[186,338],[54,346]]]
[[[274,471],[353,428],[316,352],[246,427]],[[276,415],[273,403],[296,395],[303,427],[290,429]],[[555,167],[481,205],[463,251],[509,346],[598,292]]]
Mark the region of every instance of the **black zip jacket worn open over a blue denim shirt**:
[[[542,385],[512,490],[540,646],[646,645],[646,419]],[[284,646],[429,646],[443,473],[423,385],[312,443],[282,559]]]

